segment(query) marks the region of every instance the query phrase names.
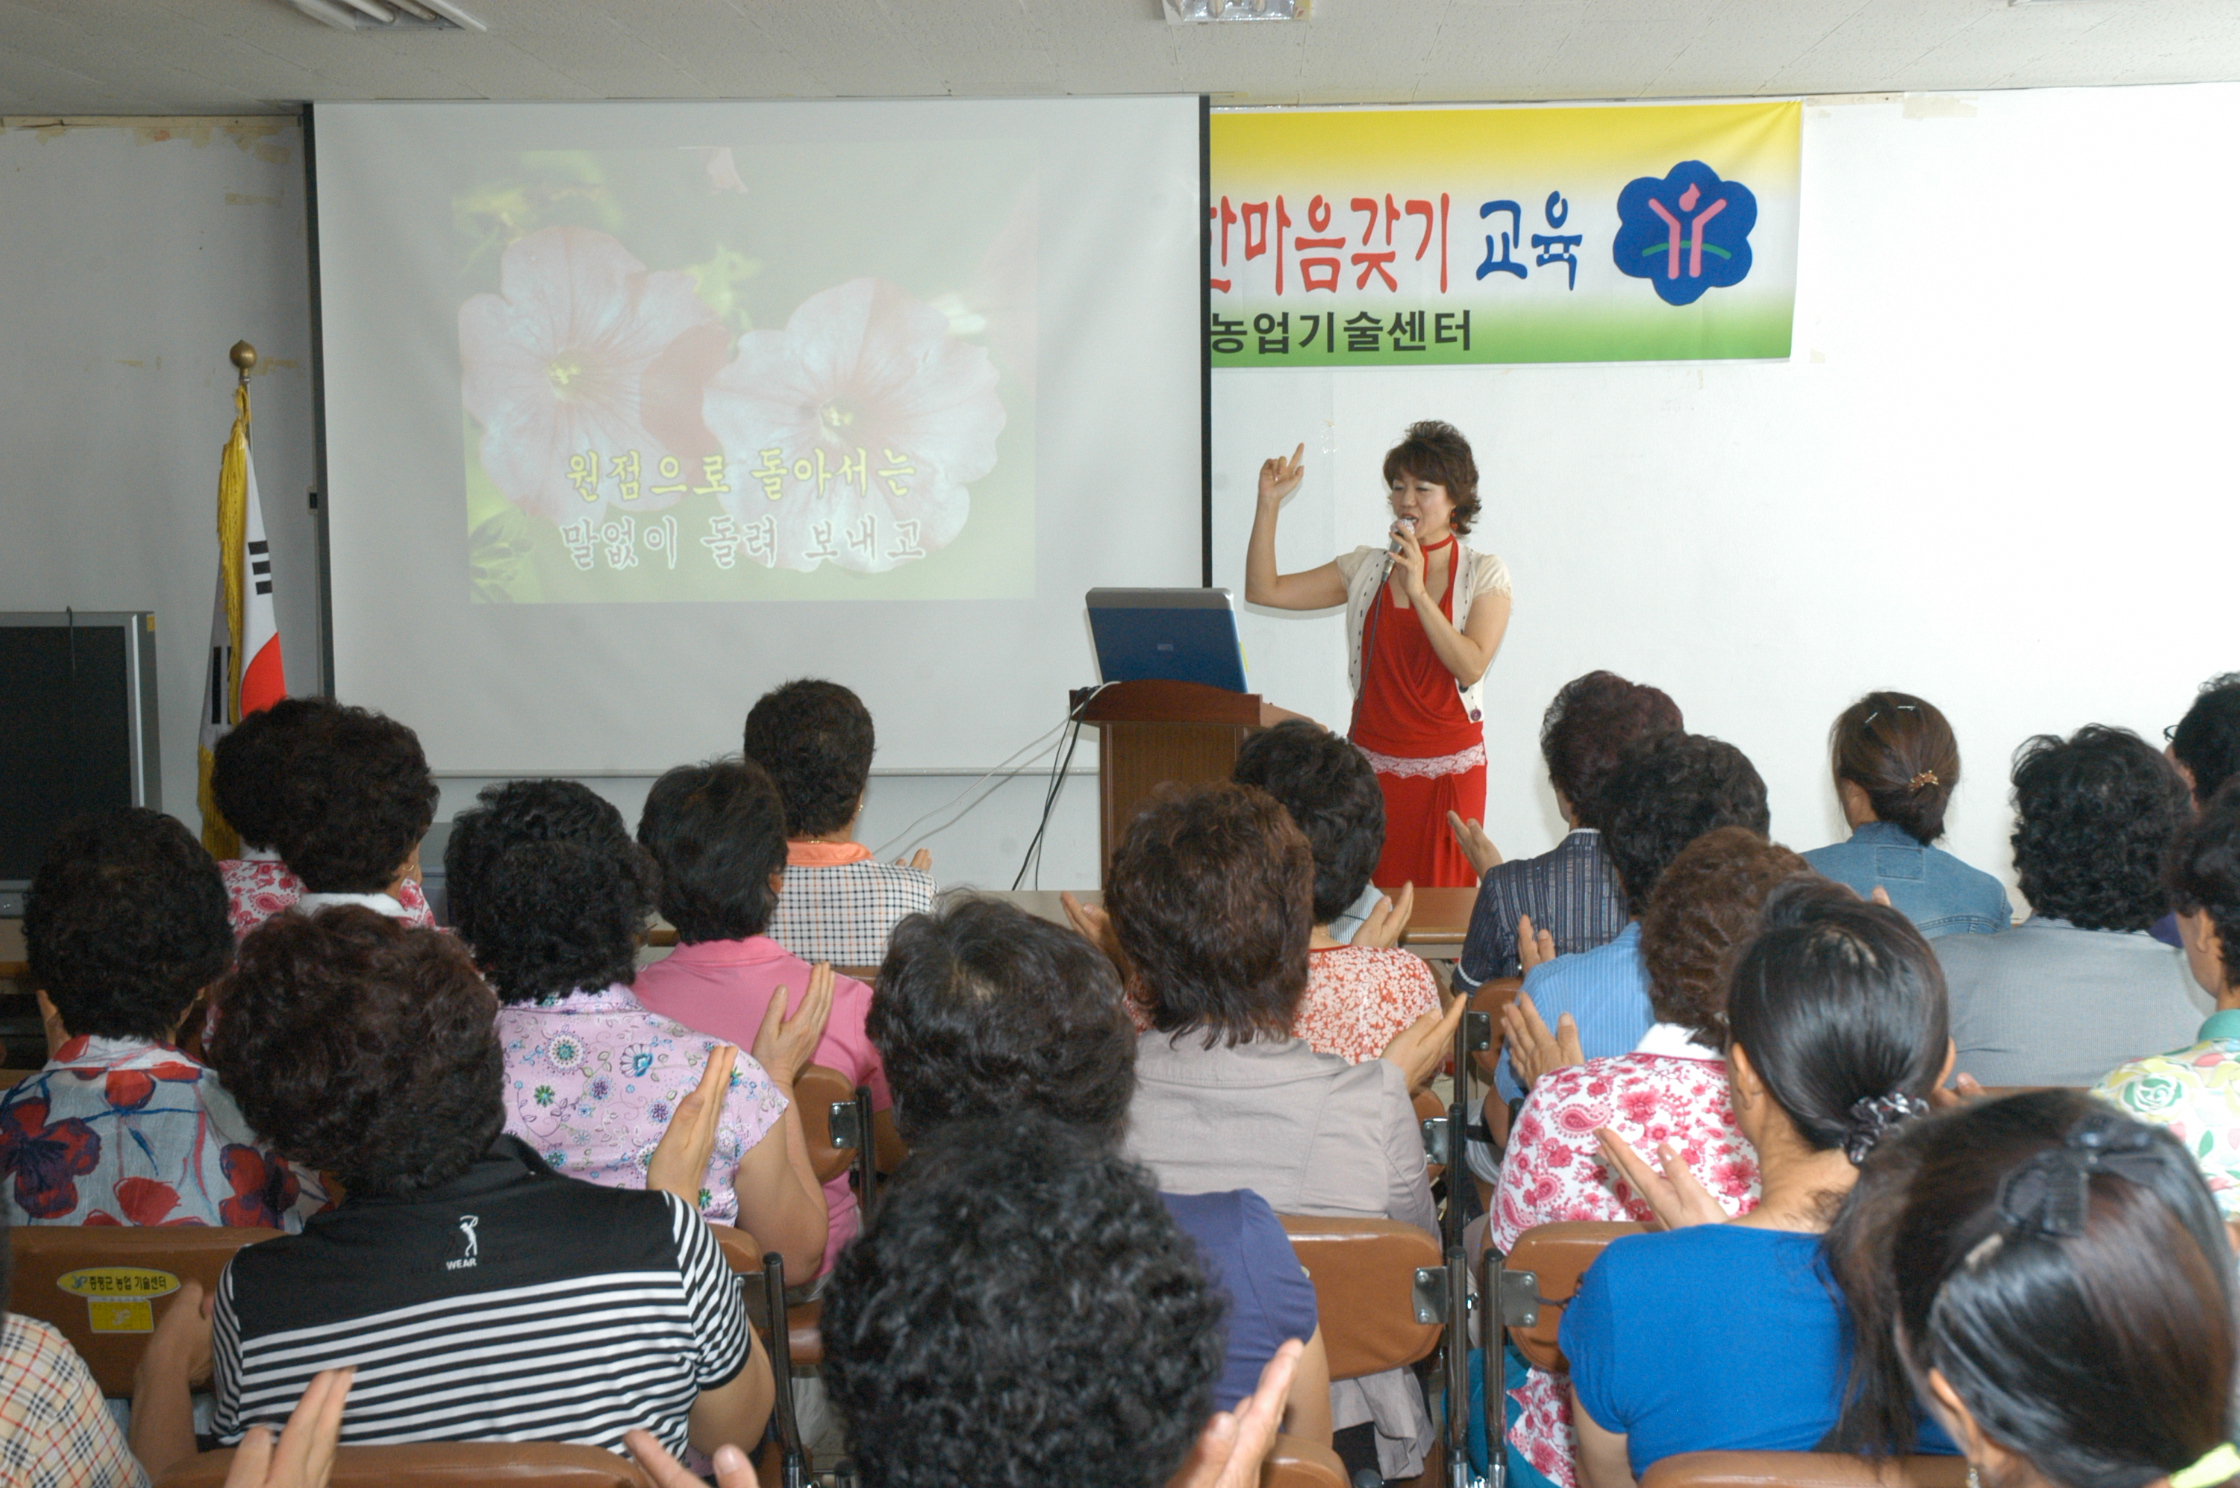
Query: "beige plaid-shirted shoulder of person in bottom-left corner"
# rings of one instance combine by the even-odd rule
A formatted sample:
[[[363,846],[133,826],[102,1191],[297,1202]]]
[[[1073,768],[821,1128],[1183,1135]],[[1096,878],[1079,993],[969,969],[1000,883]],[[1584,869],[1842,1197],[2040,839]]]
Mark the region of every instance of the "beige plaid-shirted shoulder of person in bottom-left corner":
[[[7,1208],[0,1206],[0,1484],[9,1488],[148,1488],[69,1340],[7,1311]]]

